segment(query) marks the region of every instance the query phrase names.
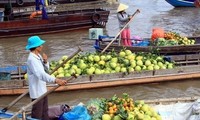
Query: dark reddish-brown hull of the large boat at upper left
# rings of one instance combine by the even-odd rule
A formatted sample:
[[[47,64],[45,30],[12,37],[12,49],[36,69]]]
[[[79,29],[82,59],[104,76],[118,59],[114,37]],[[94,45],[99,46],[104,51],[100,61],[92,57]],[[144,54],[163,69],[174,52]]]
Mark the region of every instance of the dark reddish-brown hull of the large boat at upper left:
[[[53,15],[54,14],[54,15]],[[106,23],[109,11],[87,9],[68,12],[49,13],[48,19],[18,19],[0,22],[0,38],[34,34],[56,33],[98,26],[92,16],[99,15],[99,21]],[[105,26],[98,26],[105,27]]]

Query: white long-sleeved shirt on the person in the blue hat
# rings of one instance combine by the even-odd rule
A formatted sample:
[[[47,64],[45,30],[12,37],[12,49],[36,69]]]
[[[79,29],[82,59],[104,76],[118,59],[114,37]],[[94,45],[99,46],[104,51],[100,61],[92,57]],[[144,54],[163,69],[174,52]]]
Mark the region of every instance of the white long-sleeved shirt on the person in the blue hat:
[[[55,77],[45,72],[41,55],[30,52],[27,60],[27,75],[30,98],[36,99],[47,92],[46,83],[54,83]],[[49,68],[49,63],[45,64]]]

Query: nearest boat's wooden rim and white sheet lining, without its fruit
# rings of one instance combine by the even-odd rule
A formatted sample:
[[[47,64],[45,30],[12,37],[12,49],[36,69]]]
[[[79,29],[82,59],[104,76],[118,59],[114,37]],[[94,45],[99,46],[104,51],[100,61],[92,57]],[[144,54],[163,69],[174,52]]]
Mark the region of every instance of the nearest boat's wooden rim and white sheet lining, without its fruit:
[[[197,105],[199,96],[192,97],[178,97],[178,98],[160,98],[160,99],[149,99],[143,100],[145,104],[151,106],[156,112],[158,112],[162,120],[172,120],[172,118],[180,118],[182,120],[186,118],[192,118],[197,115],[195,105]],[[134,99],[135,100],[135,99]],[[75,105],[76,106],[76,105]],[[182,114],[186,112],[187,114]],[[176,113],[176,114],[175,114]],[[14,114],[12,112],[0,113],[0,119],[9,119]],[[17,116],[19,119],[22,115]],[[177,118],[178,117],[178,118]],[[18,120],[18,119],[17,119]],[[26,120],[36,120],[34,118],[26,117]]]

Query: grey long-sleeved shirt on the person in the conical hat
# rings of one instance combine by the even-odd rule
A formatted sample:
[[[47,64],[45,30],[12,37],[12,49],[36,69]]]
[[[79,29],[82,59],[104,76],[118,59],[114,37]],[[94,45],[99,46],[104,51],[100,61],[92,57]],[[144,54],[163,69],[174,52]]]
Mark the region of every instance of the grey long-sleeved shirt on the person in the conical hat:
[[[130,15],[128,15],[126,12],[121,12],[121,13],[118,12],[117,13],[117,18],[118,18],[118,21],[119,21],[119,27],[120,27],[120,29],[122,29],[126,25],[126,23],[128,23],[129,16]],[[127,25],[126,28],[129,28],[129,25]]]

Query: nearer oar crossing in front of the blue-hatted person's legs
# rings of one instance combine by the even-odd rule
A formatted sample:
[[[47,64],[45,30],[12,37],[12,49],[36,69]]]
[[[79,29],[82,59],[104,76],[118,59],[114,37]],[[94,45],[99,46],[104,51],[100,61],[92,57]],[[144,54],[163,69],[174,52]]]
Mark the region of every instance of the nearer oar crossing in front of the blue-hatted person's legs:
[[[76,78],[76,76],[72,76],[70,77],[67,81],[72,80],[73,78]],[[59,88],[60,85],[57,85],[56,87],[52,88],[51,90],[47,91],[46,93],[44,93],[42,96],[40,96],[39,98],[37,98],[36,100],[30,102],[28,105],[22,107],[18,112],[16,112],[9,120],[14,119],[15,117],[17,117],[17,115],[19,115],[20,113],[26,111],[27,108],[31,107],[32,105],[34,105],[35,103],[37,103],[38,101],[40,101],[42,98],[44,98],[45,96],[47,96],[49,93],[55,91],[57,88]]]

